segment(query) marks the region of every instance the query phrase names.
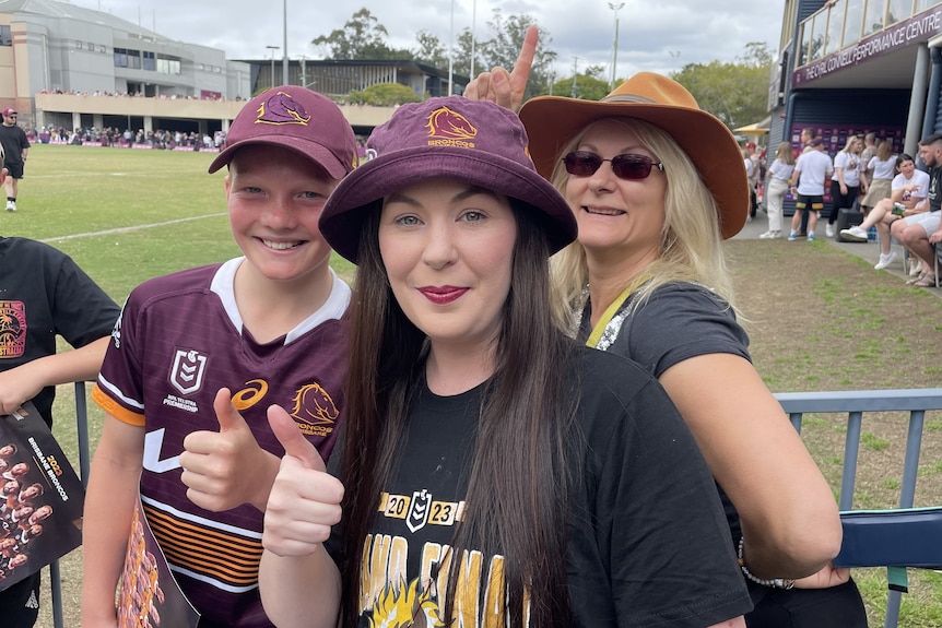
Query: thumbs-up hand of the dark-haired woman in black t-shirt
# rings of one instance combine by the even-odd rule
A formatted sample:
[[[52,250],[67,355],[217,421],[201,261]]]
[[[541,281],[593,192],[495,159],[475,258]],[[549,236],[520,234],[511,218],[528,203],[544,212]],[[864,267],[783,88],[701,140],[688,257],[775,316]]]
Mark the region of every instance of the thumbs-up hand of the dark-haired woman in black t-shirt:
[[[343,484],[326,472],[318,451],[283,408],[271,406],[268,422],[285,455],[268,498],[261,542],[278,556],[307,556],[340,521]]]

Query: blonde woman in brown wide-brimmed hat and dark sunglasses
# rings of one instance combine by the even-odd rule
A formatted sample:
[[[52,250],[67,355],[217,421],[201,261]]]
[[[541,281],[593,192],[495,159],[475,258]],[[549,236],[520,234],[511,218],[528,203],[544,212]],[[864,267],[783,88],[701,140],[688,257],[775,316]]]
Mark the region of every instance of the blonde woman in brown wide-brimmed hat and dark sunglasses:
[[[520,118],[579,225],[553,260],[575,333],[639,363],[683,415],[756,603],[746,623],[866,626],[849,573],[829,564],[841,538],[834,496],[737,321],[722,240],[745,223],[750,192],[730,131],[648,72],[600,102],[533,98]]]

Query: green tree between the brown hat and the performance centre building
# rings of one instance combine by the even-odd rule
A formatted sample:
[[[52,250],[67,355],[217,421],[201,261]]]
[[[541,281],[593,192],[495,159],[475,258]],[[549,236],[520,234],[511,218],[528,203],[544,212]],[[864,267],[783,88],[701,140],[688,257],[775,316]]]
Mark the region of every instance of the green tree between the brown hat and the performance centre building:
[[[765,44],[746,44],[735,63],[714,60],[687,63],[671,78],[686,87],[700,108],[730,129],[751,125],[768,112],[768,82],[773,56]]]

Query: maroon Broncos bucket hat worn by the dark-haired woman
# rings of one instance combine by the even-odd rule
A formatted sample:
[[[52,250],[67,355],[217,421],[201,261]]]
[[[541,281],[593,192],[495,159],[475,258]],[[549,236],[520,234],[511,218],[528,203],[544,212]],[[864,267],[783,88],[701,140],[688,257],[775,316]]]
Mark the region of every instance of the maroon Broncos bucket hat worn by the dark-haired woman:
[[[433,177],[480,186],[534,210],[552,252],[576,239],[569,204],[537,173],[516,114],[486,100],[428,98],[397,109],[367,140],[368,162],[343,179],[320,214],[320,233],[356,263],[368,210],[384,197]]]

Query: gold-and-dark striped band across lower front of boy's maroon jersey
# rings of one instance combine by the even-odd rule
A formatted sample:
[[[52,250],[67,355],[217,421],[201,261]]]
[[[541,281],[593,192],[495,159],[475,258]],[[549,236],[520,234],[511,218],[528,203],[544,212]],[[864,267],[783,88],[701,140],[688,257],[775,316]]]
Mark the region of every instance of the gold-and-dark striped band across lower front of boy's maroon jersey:
[[[149,505],[144,505],[144,512],[170,564],[229,586],[258,582],[260,540],[199,525]]]

